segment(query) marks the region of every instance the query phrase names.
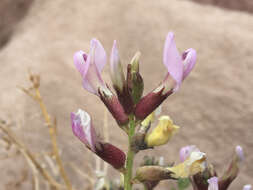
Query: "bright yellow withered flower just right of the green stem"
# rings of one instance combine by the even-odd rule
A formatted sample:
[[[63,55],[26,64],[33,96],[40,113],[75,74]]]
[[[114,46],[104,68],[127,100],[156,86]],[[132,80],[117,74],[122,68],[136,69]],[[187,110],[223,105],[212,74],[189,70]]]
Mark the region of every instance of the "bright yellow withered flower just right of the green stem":
[[[150,116],[151,119],[152,116]],[[166,144],[178,129],[179,126],[174,125],[169,116],[161,116],[156,128],[146,136],[145,142],[148,147]]]

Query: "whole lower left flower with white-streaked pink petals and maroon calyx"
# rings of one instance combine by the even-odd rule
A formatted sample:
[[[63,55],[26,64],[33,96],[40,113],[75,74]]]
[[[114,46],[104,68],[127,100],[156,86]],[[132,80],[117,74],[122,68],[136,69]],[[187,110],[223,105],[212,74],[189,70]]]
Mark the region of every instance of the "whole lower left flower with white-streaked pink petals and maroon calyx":
[[[72,131],[87,148],[97,154],[101,159],[111,164],[114,168],[124,167],[126,156],[119,148],[110,143],[99,140],[92,125],[90,115],[79,109],[71,113]]]

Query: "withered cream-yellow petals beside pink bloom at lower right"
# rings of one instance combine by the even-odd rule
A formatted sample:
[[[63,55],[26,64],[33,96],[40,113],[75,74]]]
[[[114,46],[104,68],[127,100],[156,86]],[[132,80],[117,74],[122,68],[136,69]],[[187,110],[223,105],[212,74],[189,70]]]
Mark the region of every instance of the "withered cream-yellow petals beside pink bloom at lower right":
[[[206,168],[206,155],[203,152],[192,152],[188,159],[181,164],[167,169],[173,174],[174,178],[187,178],[199,172],[203,172]]]

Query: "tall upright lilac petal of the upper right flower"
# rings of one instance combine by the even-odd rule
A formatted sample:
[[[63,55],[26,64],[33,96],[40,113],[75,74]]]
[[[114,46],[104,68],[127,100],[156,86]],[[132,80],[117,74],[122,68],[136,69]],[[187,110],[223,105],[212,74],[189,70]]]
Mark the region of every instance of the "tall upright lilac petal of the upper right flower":
[[[174,91],[176,91],[183,79],[184,66],[182,57],[177,50],[176,43],[174,41],[174,34],[172,32],[168,33],[164,44],[163,64],[168,69],[170,76],[172,76],[177,83],[177,86],[174,89]]]

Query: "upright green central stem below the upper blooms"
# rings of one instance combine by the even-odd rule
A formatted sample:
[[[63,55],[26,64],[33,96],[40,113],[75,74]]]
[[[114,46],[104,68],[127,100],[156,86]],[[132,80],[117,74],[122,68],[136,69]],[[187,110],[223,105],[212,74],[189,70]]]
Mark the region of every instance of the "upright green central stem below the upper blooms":
[[[134,160],[134,151],[131,148],[132,138],[135,132],[135,120],[134,117],[130,117],[129,122],[129,133],[128,133],[128,153],[127,153],[127,163],[126,163],[126,172],[124,174],[124,190],[132,190],[132,170],[133,170],[133,160]]]

